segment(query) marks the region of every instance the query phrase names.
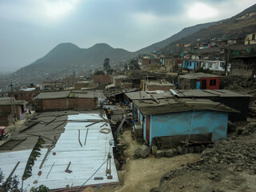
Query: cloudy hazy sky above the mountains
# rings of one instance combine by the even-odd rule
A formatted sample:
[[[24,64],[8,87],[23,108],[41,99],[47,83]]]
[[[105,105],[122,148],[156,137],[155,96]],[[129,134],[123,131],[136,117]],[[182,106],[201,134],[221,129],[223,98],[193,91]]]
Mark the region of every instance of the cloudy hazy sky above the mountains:
[[[130,51],[187,26],[230,18],[255,0],[1,0],[0,72],[18,70],[54,46],[106,42]]]

